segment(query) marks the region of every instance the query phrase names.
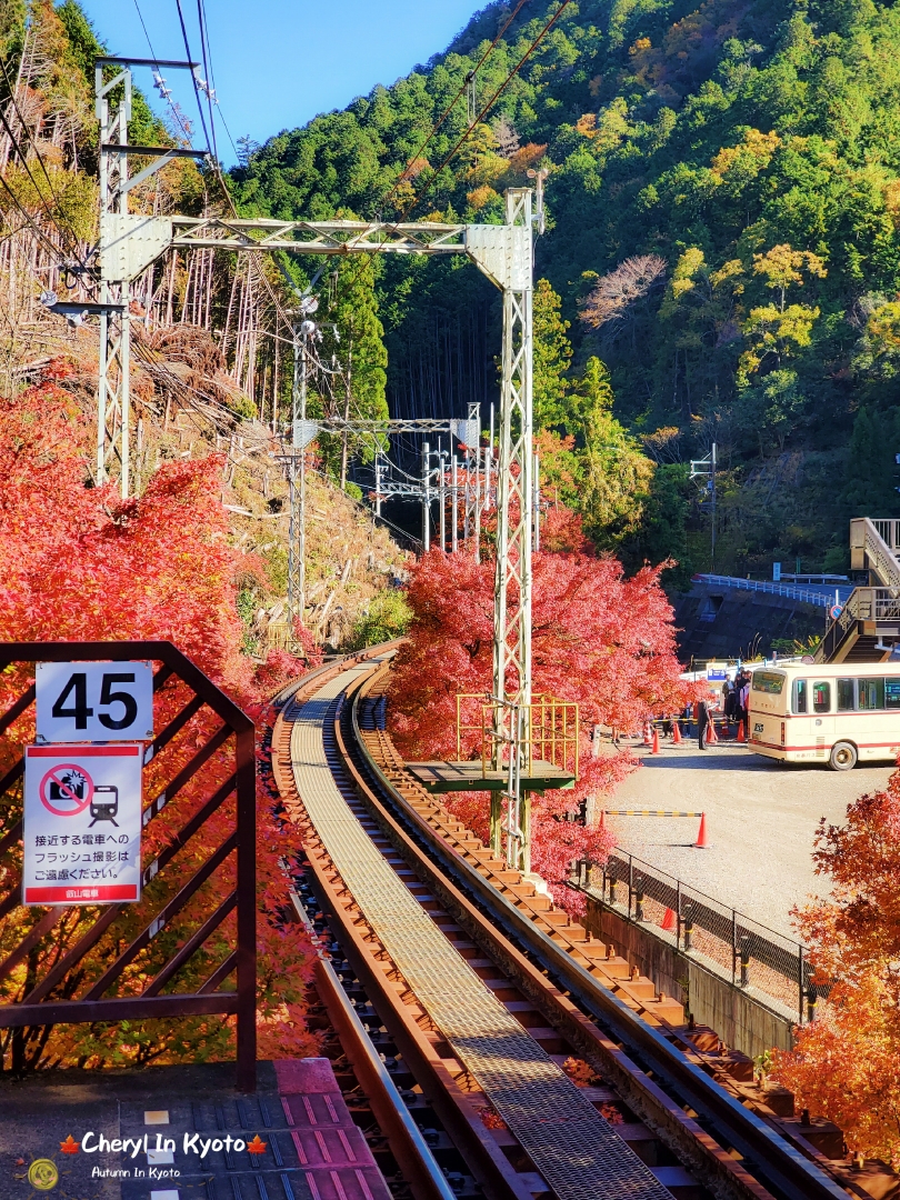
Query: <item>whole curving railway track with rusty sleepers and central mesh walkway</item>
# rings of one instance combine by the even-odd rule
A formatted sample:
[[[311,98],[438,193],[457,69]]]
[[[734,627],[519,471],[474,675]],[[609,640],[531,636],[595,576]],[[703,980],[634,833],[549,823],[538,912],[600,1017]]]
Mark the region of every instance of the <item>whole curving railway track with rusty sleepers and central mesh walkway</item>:
[[[328,942],[319,996],[416,1200],[864,1195],[403,772],[378,728],[389,654],[304,679],[272,760],[306,834],[294,904]]]

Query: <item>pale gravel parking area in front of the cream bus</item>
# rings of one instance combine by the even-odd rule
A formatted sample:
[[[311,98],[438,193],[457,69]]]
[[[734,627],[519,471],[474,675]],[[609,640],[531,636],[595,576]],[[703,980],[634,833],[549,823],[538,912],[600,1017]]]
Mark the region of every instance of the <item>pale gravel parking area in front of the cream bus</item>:
[[[606,800],[616,809],[706,811],[708,850],[695,850],[698,821],[607,817],[619,846],[779,932],[790,911],[828,893],[812,866],[820,817],[839,823],[847,805],[884,787],[890,766],[848,772],[750,754],[743,746],[643,751],[642,766]]]

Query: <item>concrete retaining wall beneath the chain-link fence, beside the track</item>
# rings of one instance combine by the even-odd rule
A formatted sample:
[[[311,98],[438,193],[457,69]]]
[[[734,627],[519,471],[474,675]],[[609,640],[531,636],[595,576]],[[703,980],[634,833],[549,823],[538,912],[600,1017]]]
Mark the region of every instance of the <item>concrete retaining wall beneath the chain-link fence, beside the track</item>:
[[[755,1058],[774,1046],[793,1046],[793,1020],[779,1013],[774,1001],[769,1006],[752,989],[736,988],[713,962],[677,949],[653,926],[629,920],[593,896],[584,925],[601,942],[612,942],[617,954],[653,979],[659,991],[683,1003],[698,1025],[714,1028],[733,1050]]]

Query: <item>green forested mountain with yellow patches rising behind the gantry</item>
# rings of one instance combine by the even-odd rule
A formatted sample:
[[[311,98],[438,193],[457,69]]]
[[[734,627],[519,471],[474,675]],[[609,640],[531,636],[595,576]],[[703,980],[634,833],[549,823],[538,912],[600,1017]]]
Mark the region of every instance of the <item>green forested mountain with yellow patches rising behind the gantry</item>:
[[[598,541],[707,566],[685,462],[715,439],[718,569],[842,565],[851,514],[898,511],[900,6],[569,2],[449,163],[466,95],[421,149],[498,30],[479,112],[559,8],[490,5],[407,78],[247,146],[241,206],[496,221],[546,167],[539,415],[575,438],[558,478]],[[492,398],[490,284],[458,260],[376,271],[392,412]]]

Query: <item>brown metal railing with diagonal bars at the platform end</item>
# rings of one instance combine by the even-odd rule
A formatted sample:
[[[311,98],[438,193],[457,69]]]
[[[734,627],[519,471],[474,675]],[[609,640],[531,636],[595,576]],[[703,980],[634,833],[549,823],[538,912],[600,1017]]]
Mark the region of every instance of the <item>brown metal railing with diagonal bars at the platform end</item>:
[[[164,698],[167,722],[144,754],[144,779],[152,796],[143,826],[156,833],[168,805],[191,785],[182,822],[166,822],[162,845],[145,852],[138,904],[28,910],[23,919],[22,854],[24,772],[13,724],[35,700],[35,662],[150,660],[155,707]],[[0,715],[0,1031],[12,1030],[10,1066],[25,1067],[26,1046],[58,1024],[166,1020],[198,1015],[236,1016],[238,1086],[256,1088],[256,731],[241,712],[170,642],[29,642],[0,646],[0,670],[19,666],[23,690]],[[206,710],[205,714],[203,710]],[[203,718],[215,714],[215,726]],[[198,722],[196,718],[200,716]],[[168,748],[168,749],[167,749]],[[194,836],[206,827],[209,846]],[[184,851],[184,853],[182,853]],[[169,866],[172,864],[172,866]],[[167,868],[169,868],[167,870]],[[228,920],[236,910],[236,919]],[[190,914],[193,935],[160,949],[157,934],[178,913]],[[18,924],[8,924],[10,920]],[[59,931],[68,930],[61,938]],[[2,936],[6,934],[7,936]],[[18,937],[18,942],[16,938]],[[155,943],[151,952],[151,943]],[[196,958],[200,953],[200,958]],[[191,991],[180,974],[191,964],[199,984]],[[28,970],[22,971],[20,964]],[[142,970],[136,970],[137,965]],[[229,978],[235,990],[221,991]],[[42,1044],[42,1043],[41,1043]]]

